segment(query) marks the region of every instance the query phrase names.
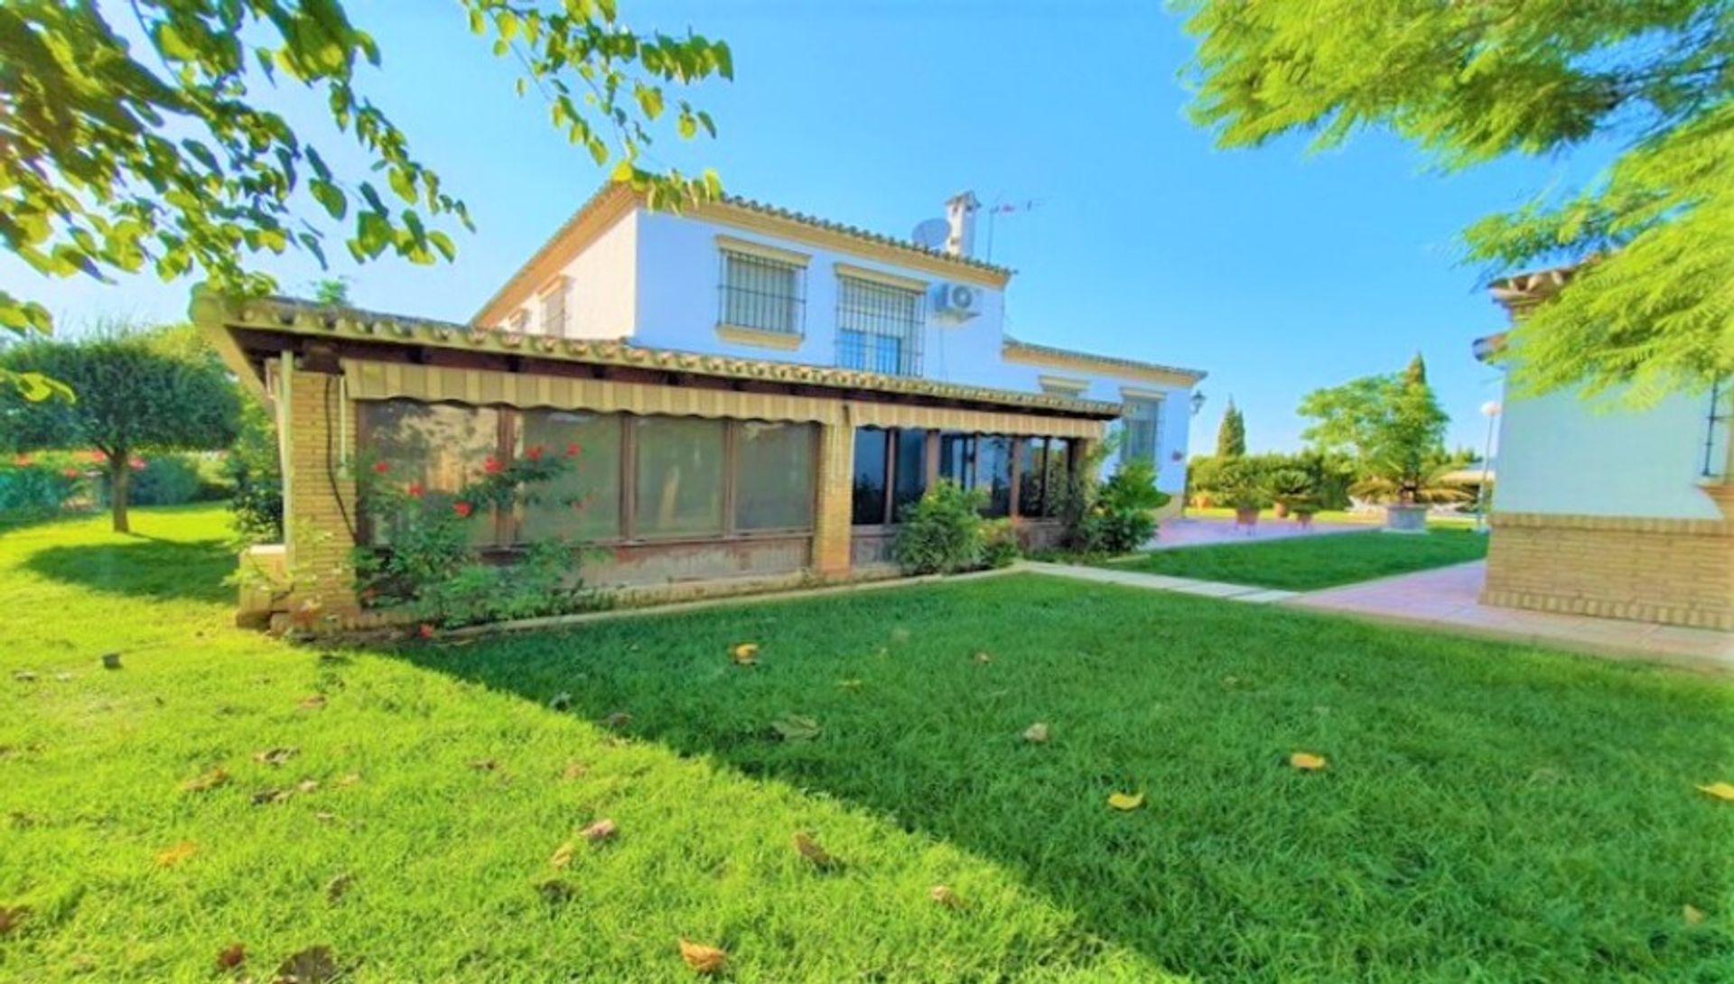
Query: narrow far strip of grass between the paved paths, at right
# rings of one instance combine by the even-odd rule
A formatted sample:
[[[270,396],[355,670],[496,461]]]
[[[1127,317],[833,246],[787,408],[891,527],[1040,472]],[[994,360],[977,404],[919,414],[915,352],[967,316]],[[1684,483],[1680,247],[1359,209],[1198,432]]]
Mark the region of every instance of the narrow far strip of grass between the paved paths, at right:
[[[1110,561],[1108,566],[1285,591],[1316,591],[1484,556],[1488,556],[1488,537],[1469,530],[1427,530],[1425,535],[1356,532],[1150,551],[1134,560]]]

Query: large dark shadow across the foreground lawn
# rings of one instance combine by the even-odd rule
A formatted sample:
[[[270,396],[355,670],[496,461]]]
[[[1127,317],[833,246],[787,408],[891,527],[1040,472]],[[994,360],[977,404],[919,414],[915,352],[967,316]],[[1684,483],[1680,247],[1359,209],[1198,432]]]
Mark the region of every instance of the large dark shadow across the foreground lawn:
[[[742,641],[758,665],[732,664]],[[402,657],[858,804],[1207,981],[1734,960],[1727,925],[1680,920],[1734,877],[1725,818],[1680,780],[1731,761],[1727,691],[1680,674],[1037,577]],[[791,715],[818,736],[780,740]],[[1330,767],[1290,769],[1295,750]]]

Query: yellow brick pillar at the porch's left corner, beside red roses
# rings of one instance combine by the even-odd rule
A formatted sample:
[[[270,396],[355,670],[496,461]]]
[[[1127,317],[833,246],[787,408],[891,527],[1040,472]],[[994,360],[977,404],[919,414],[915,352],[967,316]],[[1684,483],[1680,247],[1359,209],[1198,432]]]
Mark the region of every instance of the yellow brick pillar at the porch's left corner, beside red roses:
[[[302,620],[357,610],[350,551],[355,483],[343,452],[354,405],[343,378],[312,372],[284,355],[277,364],[277,440],[283,454],[284,568],[290,613]]]

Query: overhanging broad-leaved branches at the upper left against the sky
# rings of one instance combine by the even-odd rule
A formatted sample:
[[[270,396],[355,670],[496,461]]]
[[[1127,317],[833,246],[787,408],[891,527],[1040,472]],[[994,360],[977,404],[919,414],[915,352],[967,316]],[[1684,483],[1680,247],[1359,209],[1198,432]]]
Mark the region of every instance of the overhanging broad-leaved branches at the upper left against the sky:
[[[640,166],[652,126],[714,135],[666,87],[733,73],[728,47],[699,35],[638,33],[616,0],[460,0],[470,29],[522,66],[518,94],[546,97],[553,126],[652,206],[713,197],[716,175]],[[130,43],[109,14],[132,19]],[[220,291],[262,293],[258,253],[324,263],[321,222],[347,223],[357,262],[395,253],[451,260],[447,229],[470,213],[411,151],[359,69],[373,36],[342,0],[7,0],[0,3],[0,244],[54,275],[192,272]],[[340,175],[277,113],[276,85],[319,92],[336,130],[371,158]],[[383,182],[376,185],[375,182]],[[0,327],[47,333],[49,312],[0,289]],[[42,398],[38,376],[0,376]]]

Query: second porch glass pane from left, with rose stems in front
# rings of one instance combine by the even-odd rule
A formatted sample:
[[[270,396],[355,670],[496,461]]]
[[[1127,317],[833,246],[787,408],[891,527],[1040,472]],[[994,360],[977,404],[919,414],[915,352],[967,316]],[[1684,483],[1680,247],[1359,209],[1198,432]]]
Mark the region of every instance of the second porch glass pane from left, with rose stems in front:
[[[621,418],[588,411],[524,411],[518,457],[560,456],[572,466],[527,490],[518,542],[621,535]]]

